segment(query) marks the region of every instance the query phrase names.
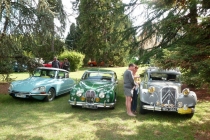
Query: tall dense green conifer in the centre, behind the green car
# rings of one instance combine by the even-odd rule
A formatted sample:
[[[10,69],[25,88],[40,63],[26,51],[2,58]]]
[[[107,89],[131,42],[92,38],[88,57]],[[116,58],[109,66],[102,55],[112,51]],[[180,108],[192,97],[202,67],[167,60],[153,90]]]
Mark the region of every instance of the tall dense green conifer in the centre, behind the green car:
[[[80,38],[76,45],[86,54],[86,60],[102,59],[106,63],[111,60],[118,65],[125,64],[130,50],[128,45],[134,37],[127,33],[132,24],[124,14],[121,0],[80,1],[77,26]]]

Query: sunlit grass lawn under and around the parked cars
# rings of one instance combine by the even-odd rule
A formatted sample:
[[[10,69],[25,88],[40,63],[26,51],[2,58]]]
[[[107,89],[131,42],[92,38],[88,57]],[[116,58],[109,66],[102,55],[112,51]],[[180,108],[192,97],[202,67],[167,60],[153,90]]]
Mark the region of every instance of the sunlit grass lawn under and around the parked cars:
[[[0,140],[207,140],[210,138],[210,102],[200,101],[192,119],[177,113],[149,112],[130,117],[125,112],[122,74],[126,68],[108,68],[117,72],[120,92],[117,105],[110,109],[72,108],[69,95],[52,102],[13,99],[0,94]],[[84,70],[71,72],[80,79]],[[28,74],[14,74],[24,79]]]

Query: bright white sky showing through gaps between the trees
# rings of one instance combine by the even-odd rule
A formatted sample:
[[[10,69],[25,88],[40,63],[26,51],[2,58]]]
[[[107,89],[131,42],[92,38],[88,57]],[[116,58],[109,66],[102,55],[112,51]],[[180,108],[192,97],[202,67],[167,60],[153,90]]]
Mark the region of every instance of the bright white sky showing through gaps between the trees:
[[[70,1],[71,0],[62,0],[63,5],[64,5],[64,9],[65,9],[65,11],[67,12],[67,15],[68,15],[66,31],[65,31],[64,36],[63,36],[64,38],[66,38],[66,36],[69,32],[70,25],[72,23],[76,23],[75,18],[77,17],[77,15],[75,13],[73,13],[72,4],[71,4]],[[122,1],[123,1],[123,3],[129,3],[132,0],[122,0]],[[136,6],[134,11],[131,13],[130,18],[132,19],[134,26],[140,25],[141,22],[143,22],[143,20],[144,20],[143,16],[139,15],[139,13],[141,13],[143,9],[144,8],[142,6]]]

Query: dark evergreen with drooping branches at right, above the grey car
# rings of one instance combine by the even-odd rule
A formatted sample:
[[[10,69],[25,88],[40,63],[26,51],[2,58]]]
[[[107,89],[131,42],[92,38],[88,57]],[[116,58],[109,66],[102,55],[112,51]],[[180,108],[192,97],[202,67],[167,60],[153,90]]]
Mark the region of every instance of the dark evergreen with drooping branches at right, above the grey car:
[[[200,83],[210,83],[210,2],[144,2],[148,6],[148,16],[141,27],[139,43],[142,58],[153,56],[160,67],[180,67],[182,72],[198,75]],[[152,48],[145,49],[145,44],[151,40]]]

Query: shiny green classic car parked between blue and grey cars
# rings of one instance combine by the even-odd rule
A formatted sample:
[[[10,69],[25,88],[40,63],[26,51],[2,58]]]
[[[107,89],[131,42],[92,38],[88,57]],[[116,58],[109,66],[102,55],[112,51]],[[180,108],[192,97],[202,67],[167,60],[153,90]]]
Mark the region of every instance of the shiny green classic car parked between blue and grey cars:
[[[105,69],[87,70],[80,82],[71,90],[69,103],[72,107],[114,108],[117,85],[117,75],[114,71]]]

